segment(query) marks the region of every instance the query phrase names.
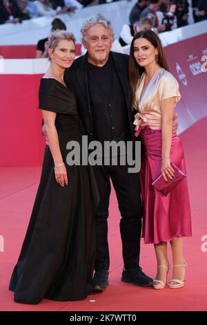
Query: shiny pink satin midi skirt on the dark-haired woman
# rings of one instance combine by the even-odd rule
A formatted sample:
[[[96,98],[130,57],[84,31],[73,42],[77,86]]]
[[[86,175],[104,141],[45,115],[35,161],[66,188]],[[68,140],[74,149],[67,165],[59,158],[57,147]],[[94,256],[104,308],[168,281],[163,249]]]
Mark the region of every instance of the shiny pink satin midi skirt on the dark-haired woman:
[[[160,243],[174,237],[192,236],[187,178],[168,196],[158,192],[152,181],[161,173],[161,130],[152,130],[146,125],[140,131],[144,145],[140,171],[144,242]],[[184,150],[175,134],[172,134],[170,160],[186,173]]]

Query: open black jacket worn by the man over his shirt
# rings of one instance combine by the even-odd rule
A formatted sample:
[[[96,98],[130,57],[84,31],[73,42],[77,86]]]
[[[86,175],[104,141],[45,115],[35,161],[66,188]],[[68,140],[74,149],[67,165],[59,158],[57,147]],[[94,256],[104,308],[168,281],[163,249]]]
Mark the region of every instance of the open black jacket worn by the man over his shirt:
[[[131,109],[132,93],[130,89],[130,81],[128,76],[128,55],[110,52],[112,61],[115,64],[119,80],[123,87],[126,99],[126,109],[128,111],[128,122],[130,127],[131,140],[134,142],[134,114]],[[90,97],[88,91],[88,65],[87,57],[83,55],[75,60],[72,66],[64,73],[64,82],[69,89],[75,93],[78,102],[79,115],[83,122],[83,126],[88,134],[88,140],[93,140],[92,112],[90,107]],[[127,126],[128,127],[128,126]]]

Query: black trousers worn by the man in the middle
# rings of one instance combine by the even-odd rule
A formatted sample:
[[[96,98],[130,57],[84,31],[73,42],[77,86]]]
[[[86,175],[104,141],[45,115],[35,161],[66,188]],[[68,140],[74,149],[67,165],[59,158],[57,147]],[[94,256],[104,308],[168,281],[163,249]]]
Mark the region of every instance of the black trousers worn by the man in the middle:
[[[96,212],[97,255],[95,270],[109,269],[108,207],[110,178],[121,213],[120,232],[125,268],[139,265],[142,205],[138,173],[128,173],[128,166],[95,166],[100,202]]]

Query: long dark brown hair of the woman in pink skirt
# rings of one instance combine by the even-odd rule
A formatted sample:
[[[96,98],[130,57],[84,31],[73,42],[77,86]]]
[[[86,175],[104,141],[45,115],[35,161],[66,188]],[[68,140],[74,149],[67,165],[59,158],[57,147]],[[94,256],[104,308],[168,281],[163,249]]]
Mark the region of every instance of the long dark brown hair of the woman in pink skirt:
[[[129,59],[129,76],[130,76],[130,85],[132,89],[132,108],[135,104],[135,91],[137,88],[137,82],[141,77],[142,73],[144,73],[144,66],[139,66],[134,57],[134,43],[136,39],[145,38],[147,39],[155,48],[158,50],[158,60],[157,64],[161,66],[161,68],[169,71],[168,62],[166,60],[166,56],[164,54],[163,47],[161,46],[161,41],[155,32],[152,30],[142,30],[141,32],[137,32],[135,37],[132,39],[132,43],[130,46],[130,59]]]

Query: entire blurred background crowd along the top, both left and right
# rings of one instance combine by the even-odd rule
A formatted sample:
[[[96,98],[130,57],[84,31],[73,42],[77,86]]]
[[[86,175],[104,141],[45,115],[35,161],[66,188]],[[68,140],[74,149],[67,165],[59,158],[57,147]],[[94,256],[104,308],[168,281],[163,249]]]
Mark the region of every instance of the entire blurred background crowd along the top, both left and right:
[[[60,14],[73,15],[87,6],[98,6],[121,0],[0,0],[0,24],[18,24],[31,18],[54,17],[51,31],[66,30],[66,24],[59,19]],[[129,1],[129,6],[132,6]],[[103,10],[100,12],[104,15]],[[137,0],[121,28],[117,46],[131,43],[140,30],[153,30],[157,34],[189,24],[189,12],[196,23],[207,19],[207,0]],[[61,17],[61,16],[60,16]],[[192,19],[191,19],[192,21]],[[119,51],[119,50],[117,50]],[[84,53],[82,46],[81,53]],[[48,38],[40,39],[36,57],[48,56]]]

